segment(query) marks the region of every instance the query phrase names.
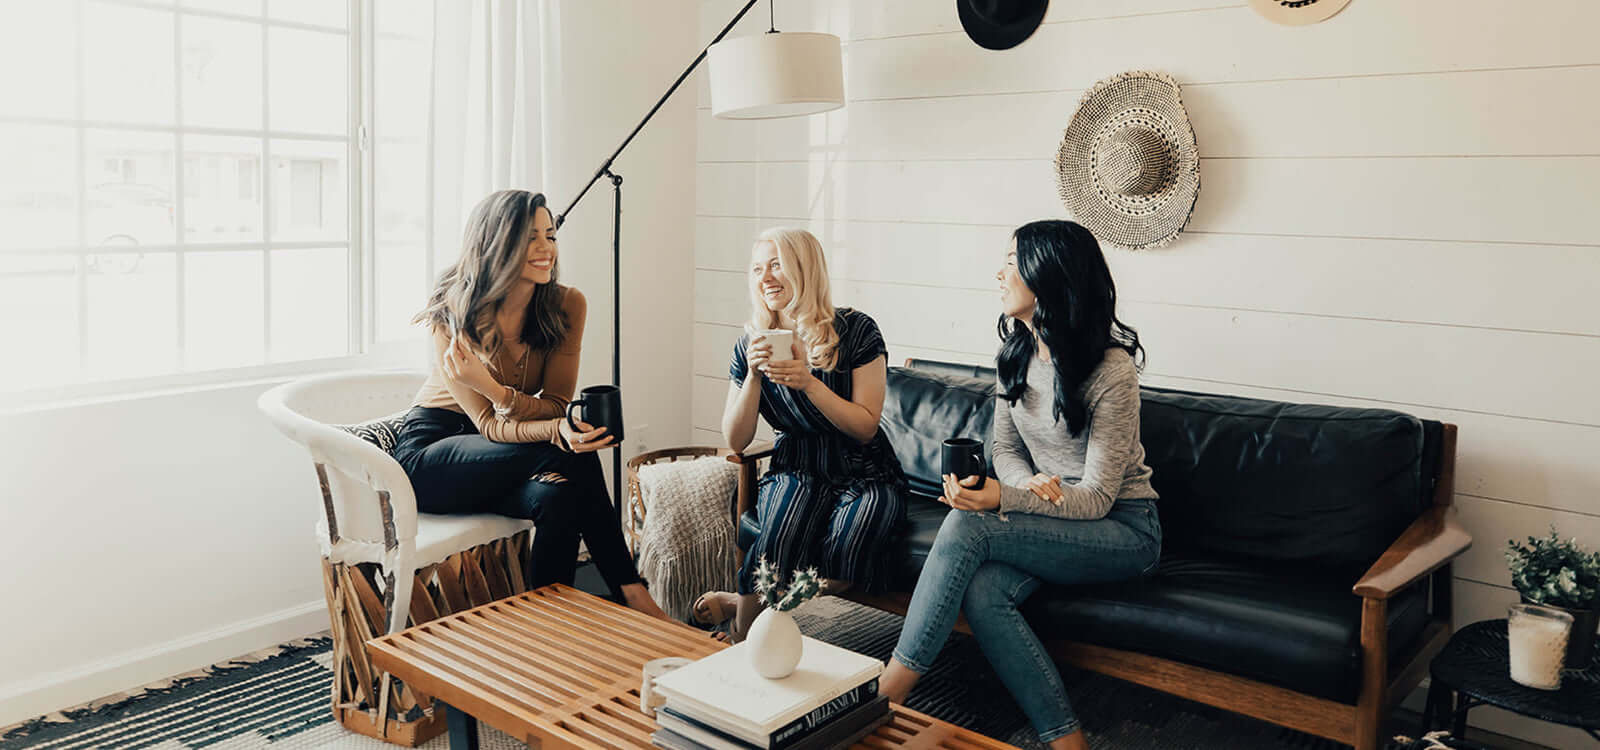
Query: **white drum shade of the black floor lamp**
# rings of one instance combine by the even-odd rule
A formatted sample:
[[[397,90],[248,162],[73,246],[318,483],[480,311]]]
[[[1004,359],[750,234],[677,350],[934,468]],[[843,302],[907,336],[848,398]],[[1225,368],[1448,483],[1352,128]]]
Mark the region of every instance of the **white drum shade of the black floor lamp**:
[[[726,120],[814,115],[845,106],[845,64],[832,34],[779,32],[710,46],[710,112]]]

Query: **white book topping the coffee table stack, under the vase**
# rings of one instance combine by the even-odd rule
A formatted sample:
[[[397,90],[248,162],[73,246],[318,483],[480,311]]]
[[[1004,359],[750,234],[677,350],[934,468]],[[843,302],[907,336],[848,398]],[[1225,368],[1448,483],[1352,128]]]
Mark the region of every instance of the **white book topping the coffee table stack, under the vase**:
[[[658,676],[656,689],[682,712],[765,739],[880,672],[883,662],[877,659],[805,638],[794,673],[768,680],[750,667],[746,641]]]

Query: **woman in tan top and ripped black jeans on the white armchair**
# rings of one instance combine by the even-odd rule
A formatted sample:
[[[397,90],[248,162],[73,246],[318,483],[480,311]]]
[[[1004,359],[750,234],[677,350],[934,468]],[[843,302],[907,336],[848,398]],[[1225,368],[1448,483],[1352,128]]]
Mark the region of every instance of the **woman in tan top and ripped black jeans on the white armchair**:
[[[578,542],[627,606],[666,617],[622,542],[595,451],[603,427],[562,417],[578,384],[587,302],[557,283],[555,217],[542,193],[501,190],[467,221],[461,259],[416,323],[434,368],[406,413],[395,461],[426,513],[530,518],[531,585],[571,584]]]

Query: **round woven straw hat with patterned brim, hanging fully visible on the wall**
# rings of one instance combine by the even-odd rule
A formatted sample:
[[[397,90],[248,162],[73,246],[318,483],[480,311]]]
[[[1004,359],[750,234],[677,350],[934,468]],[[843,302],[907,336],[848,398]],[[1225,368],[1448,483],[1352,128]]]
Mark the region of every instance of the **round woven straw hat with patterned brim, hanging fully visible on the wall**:
[[[1200,197],[1200,149],[1178,82],[1131,70],[1090,88],[1061,136],[1056,181],[1067,213],[1099,241],[1173,241]]]

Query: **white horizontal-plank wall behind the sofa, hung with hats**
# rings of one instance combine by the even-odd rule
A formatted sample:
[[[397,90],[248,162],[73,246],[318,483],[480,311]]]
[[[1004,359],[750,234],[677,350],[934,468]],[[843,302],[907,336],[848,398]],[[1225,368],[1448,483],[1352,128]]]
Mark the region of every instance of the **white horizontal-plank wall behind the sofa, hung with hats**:
[[[702,0],[702,38],[739,5]],[[827,115],[715,120],[701,82],[698,441],[720,440],[760,229],[811,229],[893,361],[987,361],[1010,230],[1066,216],[1051,160],[1078,98],[1152,69],[1182,85],[1202,192],[1171,246],[1107,249],[1144,381],[1461,425],[1458,622],[1515,600],[1507,537],[1600,544],[1600,3],[1355,0],[1283,27],[1242,2],[1058,0],[1000,53],[954,5],[779,3],[779,29],[845,40]],[[752,11],[734,34],[765,29]]]

